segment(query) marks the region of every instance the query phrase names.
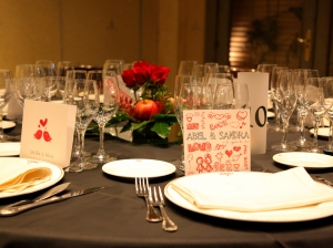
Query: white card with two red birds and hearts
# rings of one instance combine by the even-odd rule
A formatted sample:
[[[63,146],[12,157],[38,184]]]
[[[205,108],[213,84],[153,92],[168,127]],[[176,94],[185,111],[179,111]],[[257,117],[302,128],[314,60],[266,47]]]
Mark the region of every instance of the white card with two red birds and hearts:
[[[75,113],[75,105],[26,100],[20,157],[69,166]]]

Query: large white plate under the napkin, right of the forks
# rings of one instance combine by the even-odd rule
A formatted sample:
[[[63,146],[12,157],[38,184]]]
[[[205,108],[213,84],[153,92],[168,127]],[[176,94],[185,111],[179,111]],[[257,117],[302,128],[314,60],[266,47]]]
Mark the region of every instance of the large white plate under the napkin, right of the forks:
[[[238,173],[242,176],[249,176],[249,174],[254,173]],[[204,175],[204,174],[202,174]],[[182,178],[182,177],[181,177]],[[178,179],[181,179],[178,178]],[[172,182],[171,182],[172,183]],[[185,208],[191,211],[199,214],[225,218],[235,219],[243,221],[259,221],[259,223],[294,223],[319,219],[333,215],[333,202],[322,203],[319,205],[311,205],[306,207],[297,207],[281,210],[270,210],[270,211],[232,211],[224,209],[201,209],[188,202],[180,194],[178,194],[173,188],[171,183],[169,183],[164,188],[164,194],[169,200],[173,204]]]

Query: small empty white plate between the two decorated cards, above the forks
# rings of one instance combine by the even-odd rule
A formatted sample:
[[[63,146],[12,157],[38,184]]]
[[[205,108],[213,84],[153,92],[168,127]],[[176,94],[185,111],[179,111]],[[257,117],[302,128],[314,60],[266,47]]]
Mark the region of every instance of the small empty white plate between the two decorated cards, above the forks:
[[[174,173],[175,166],[163,161],[134,158],[109,162],[102,169],[112,176],[153,178]]]

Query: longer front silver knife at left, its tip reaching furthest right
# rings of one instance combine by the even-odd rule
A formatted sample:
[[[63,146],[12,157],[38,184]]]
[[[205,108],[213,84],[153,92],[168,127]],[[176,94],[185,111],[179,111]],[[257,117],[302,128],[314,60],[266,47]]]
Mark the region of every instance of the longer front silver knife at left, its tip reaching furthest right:
[[[4,207],[0,209],[0,216],[12,216],[12,215],[17,215],[19,213],[29,210],[31,208],[36,208],[36,207],[40,207],[43,205],[48,205],[48,204],[53,204],[53,203],[58,203],[58,202],[62,202],[75,196],[82,196],[89,193],[93,193],[93,192],[98,192],[101,190],[105,187],[94,187],[94,188],[87,188],[87,189],[81,189],[81,190],[75,190],[72,193],[67,193],[64,195],[61,196],[52,196],[51,198],[44,199],[44,200],[40,200],[40,202],[34,202],[32,204],[24,204],[24,205],[20,205],[20,206],[14,206],[14,207]]]

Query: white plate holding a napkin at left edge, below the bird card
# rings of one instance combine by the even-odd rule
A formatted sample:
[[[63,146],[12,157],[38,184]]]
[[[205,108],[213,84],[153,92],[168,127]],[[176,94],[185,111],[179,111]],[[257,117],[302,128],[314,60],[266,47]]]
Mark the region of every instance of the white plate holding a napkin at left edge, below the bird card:
[[[17,192],[17,193],[0,192],[0,198],[20,196],[20,195],[26,195],[26,194],[30,194],[33,192],[44,189],[47,187],[50,187],[50,186],[57,184],[63,177],[63,174],[64,174],[62,168],[60,168],[57,165],[47,163],[47,162],[29,159],[29,158],[21,158],[21,157],[1,157],[0,158],[0,175],[1,175],[1,168],[6,167],[6,166],[10,166],[11,164],[19,164],[20,166],[24,166],[24,167],[29,167],[29,166],[36,167],[36,165],[41,166],[41,167],[48,167],[52,170],[52,175],[49,180],[38,184],[38,185],[34,185],[34,186],[31,186],[31,187],[28,187],[21,192]]]

